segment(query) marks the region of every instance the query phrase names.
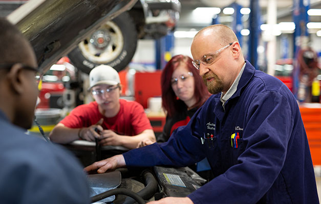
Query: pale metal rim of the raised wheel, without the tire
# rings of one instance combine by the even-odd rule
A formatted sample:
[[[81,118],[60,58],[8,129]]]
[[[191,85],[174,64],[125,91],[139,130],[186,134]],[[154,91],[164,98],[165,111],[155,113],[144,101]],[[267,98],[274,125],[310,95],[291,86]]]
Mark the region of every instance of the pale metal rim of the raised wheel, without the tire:
[[[78,44],[82,55],[96,64],[112,62],[120,55],[123,46],[122,32],[113,21],[106,22]]]

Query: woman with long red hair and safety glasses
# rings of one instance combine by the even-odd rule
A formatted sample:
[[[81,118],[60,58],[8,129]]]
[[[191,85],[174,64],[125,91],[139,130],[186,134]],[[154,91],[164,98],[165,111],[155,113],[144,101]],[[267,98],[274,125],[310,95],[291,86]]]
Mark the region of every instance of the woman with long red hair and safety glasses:
[[[157,137],[157,142],[166,142],[177,127],[186,125],[210,96],[199,70],[191,62],[188,56],[176,55],[162,71],[162,107],[167,116],[163,133]],[[139,146],[152,143],[144,140]]]

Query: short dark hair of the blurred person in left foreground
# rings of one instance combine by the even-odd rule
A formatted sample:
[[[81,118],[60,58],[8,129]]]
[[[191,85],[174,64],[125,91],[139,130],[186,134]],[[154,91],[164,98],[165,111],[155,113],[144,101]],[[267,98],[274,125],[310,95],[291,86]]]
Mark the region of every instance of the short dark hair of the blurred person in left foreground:
[[[0,63],[24,63],[31,47],[25,36],[6,18],[0,18]]]

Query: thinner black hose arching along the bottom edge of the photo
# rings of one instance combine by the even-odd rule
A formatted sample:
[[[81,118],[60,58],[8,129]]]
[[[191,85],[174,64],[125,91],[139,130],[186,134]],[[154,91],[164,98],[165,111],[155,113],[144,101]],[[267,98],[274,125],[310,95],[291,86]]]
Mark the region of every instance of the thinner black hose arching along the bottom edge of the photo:
[[[112,195],[118,195],[118,194],[130,196],[130,197],[134,198],[138,202],[138,204],[145,204],[146,203],[143,200],[143,198],[141,198],[139,195],[137,195],[133,191],[131,191],[129,189],[121,189],[121,188],[116,188],[116,189],[113,189],[113,190],[109,190],[109,191],[100,193],[98,195],[95,195],[95,196],[91,197],[91,199],[92,199],[92,202],[97,202],[98,200],[102,200],[102,199],[104,199],[106,197],[109,197],[109,196],[112,196]]]

